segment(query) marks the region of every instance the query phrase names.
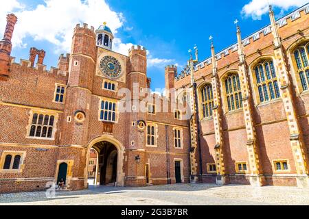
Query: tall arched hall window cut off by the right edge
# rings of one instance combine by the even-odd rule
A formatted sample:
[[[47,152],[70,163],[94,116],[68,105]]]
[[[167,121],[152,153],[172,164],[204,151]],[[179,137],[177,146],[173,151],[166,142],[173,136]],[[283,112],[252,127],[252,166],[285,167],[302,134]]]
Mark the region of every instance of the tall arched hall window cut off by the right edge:
[[[292,57],[299,85],[303,91],[309,90],[309,42],[299,45]]]

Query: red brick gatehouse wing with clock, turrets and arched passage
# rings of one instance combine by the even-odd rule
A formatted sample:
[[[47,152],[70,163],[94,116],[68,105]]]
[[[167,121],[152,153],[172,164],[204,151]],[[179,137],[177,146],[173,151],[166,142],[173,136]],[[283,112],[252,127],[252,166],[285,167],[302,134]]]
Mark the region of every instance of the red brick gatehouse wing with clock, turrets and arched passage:
[[[0,42],[0,192],[44,190],[60,179],[67,188],[87,188],[91,149],[102,185],[190,181],[190,126],[161,109],[174,101],[119,95],[150,87],[145,48],[115,53],[106,24],[77,25],[71,54],[46,70],[43,50],[30,49],[19,63],[10,56],[17,18],[7,20]]]

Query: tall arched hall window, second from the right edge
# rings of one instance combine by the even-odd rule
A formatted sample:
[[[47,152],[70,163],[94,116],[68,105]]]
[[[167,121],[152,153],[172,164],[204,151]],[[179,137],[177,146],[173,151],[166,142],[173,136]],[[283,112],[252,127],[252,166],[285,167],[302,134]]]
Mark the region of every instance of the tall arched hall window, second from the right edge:
[[[253,67],[255,77],[255,90],[260,103],[271,101],[280,97],[277,75],[273,60],[263,60]]]

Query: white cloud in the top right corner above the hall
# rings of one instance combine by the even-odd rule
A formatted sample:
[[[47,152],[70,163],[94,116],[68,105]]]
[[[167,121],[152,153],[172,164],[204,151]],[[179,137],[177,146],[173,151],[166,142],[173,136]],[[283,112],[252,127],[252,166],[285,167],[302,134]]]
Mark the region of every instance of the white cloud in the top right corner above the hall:
[[[308,3],[308,0],[252,0],[244,5],[242,14],[251,16],[253,20],[260,20],[261,16],[268,12],[268,3],[285,11],[293,6],[300,7]]]

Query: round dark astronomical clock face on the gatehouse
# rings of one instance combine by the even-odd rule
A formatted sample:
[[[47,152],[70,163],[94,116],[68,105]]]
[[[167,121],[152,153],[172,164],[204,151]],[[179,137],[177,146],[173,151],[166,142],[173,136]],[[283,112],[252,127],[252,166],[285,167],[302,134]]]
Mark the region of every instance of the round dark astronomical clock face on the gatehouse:
[[[100,62],[100,69],[104,75],[111,78],[117,78],[122,73],[122,66],[115,57],[105,56]]]

